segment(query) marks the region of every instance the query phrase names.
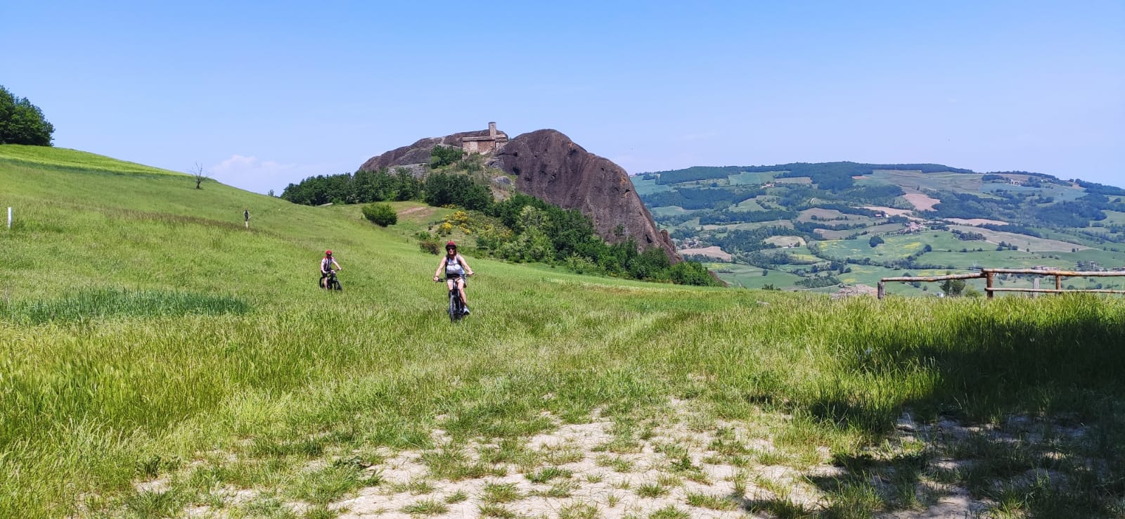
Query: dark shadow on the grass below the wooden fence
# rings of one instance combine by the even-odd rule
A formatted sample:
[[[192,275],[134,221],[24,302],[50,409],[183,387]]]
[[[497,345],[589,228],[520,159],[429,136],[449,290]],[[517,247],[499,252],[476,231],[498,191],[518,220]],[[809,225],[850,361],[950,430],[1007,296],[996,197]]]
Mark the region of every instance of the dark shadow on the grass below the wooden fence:
[[[904,410],[984,427],[927,435],[938,428],[922,426],[922,453],[837,454],[844,475],[812,478],[832,503],[818,517],[924,509],[937,498],[924,481],[968,489],[1001,513],[1120,517],[1125,317],[1097,301],[1027,315],[975,307],[942,329],[843,333],[840,370],[799,405],[813,420],[871,438],[890,436]]]

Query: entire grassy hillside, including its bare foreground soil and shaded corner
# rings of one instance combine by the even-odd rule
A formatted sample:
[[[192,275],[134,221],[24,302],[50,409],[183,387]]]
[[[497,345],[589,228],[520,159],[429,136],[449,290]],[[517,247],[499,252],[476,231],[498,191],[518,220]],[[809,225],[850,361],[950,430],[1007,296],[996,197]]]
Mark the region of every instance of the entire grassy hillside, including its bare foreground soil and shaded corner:
[[[407,238],[443,209],[380,229],[75,153],[0,146],[0,517],[870,517],[961,491],[1122,513],[1120,299],[470,258],[454,325]],[[314,285],[326,248],[339,294]],[[598,445],[531,441],[587,426]]]

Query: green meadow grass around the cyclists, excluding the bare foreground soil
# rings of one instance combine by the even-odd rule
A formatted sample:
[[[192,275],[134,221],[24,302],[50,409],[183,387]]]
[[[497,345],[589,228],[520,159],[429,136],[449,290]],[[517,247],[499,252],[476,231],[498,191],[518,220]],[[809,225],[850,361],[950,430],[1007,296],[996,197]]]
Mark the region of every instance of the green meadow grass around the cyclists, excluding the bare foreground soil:
[[[554,429],[547,415],[627,423],[670,396],[723,420],[784,412],[794,444],[844,451],[880,441],[908,408],[1068,417],[1098,442],[1063,454],[1125,467],[1119,298],[831,302],[475,259],[474,315],[452,325],[430,281],[436,258],[359,207],[125,171],[0,159],[0,206],[17,218],[0,231],[0,517],[161,514],[227,485],[262,492],[227,507],[289,517],[284,503],[379,485],[362,469],[375,459],[353,453],[414,449],[444,476],[478,474],[433,445],[442,429],[453,445],[497,439],[483,462],[534,471],[513,440]],[[342,293],[314,286],[326,248]],[[134,490],[161,477],[160,495]],[[1080,489],[1094,517],[1125,494],[1116,480]],[[411,513],[440,513],[435,499]],[[871,508],[863,489],[838,500]]]

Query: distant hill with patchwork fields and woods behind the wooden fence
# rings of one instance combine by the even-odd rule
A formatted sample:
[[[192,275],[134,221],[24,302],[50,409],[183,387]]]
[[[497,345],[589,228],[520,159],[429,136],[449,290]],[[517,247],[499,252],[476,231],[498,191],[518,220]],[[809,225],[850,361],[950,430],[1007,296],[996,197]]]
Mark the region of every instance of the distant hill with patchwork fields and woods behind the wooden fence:
[[[1097,182],[857,162],[693,167],[632,180],[680,253],[709,259],[732,285],[835,292],[981,267],[1125,268],[1125,189]]]

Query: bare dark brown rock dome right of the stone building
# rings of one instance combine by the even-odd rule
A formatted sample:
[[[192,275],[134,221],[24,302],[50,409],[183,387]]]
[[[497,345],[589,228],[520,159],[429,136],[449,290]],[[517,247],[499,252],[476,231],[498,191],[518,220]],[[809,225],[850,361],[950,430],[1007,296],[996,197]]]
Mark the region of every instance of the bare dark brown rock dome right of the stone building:
[[[496,153],[496,162],[516,177],[520,193],[582,211],[604,240],[616,243],[633,236],[641,248],[659,247],[673,263],[683,261],[668,233],[656,229],[626,170],[560,132],[538,129],[519,135]],[[618,225],[624,230],[622,236],[614,233]]]

